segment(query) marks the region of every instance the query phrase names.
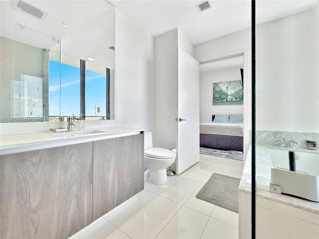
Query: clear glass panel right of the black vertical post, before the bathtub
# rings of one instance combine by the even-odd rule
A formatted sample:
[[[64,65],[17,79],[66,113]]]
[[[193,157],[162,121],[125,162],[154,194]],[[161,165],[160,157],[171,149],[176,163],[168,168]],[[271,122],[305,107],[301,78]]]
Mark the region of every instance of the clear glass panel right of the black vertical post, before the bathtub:
[[[256,1],[256,24],[256,238],[319,238],[319,2]]]

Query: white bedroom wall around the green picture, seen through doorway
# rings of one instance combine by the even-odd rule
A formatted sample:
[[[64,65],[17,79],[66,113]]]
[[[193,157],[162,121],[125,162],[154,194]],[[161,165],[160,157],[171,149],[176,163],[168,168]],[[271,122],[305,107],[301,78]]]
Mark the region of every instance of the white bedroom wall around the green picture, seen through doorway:
[[[211,64],[211,63],[210,63]],[[241,80],[240,67],[223,68],[199,75],[200,123],[211,122],[212,114],[243,114],[244,105],[213,105],[213,83]]]

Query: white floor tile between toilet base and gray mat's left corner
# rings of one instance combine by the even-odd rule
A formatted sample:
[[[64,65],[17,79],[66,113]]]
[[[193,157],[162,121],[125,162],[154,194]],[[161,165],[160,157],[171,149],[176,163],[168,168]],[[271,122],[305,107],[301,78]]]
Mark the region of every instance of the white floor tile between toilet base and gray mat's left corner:
[[[182,178],[173,187],[167,190],[162,197],[183,204],[195,191],[200,183]]]

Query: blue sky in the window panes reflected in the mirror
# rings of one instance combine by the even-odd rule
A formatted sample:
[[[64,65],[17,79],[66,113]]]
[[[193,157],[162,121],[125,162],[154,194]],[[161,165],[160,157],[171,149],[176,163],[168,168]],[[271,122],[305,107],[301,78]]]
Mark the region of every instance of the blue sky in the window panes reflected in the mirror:
[[[50,60],[49,114],[60,115],[59,62]],[[106,75],[89,71],[86,74],[86,116],[95,116],[95,106],[106,115]],[[80,68],[61,64],[61,116],[80,115]]]

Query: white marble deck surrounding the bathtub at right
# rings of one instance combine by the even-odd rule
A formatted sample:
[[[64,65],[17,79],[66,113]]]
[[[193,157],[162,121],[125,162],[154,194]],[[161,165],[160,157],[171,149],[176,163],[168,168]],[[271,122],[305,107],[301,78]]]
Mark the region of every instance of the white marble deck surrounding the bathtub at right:
[[[302,151],[302,150],[300,150]],[[316,152],[318,153],[318,152]],[[249,149],[242,178],[239,184],[239,191],[251,194],[251,148]],[[319,203],[314,203],[308,200],[295,198],[283,194],[271,193],[270,190],[270,169],[272,163],[266,146],[256,147],[256,196],[268,199],[274,202],[286,204],[295,208],[306,210],[312,213],[319,214]]]

